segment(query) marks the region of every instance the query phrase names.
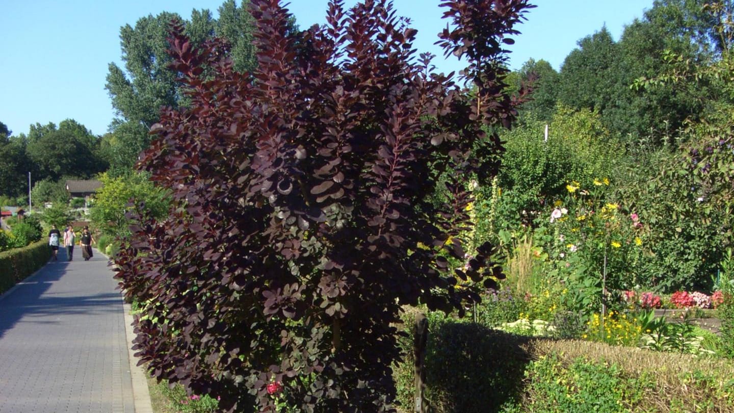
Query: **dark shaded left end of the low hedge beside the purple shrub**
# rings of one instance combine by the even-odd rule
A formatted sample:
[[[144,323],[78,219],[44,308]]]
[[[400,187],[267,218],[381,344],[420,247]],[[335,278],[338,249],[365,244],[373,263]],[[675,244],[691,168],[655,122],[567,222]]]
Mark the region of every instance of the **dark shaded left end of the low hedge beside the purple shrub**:
[[[414,315],[403,317],[410,330],[401,340],[406,356],[393,370],[397,399],[406,410],[414,403]],[[431,412],[496,412],[515,403],[524,365],[529,362],[523,344],[530,339],[444,317],[440,312],[429,312],[427,317],[426,399]]]

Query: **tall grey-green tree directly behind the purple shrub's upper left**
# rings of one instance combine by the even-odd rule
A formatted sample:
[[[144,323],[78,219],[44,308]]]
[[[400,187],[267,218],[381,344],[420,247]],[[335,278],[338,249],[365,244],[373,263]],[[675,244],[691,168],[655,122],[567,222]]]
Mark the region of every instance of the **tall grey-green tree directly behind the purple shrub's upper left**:
[[[242,1],[238,7],[234,0],[228,0],[219,7],[219,19],[213,18],[209,10],[193,10],[189,20],[161,12],[140,18],[134,27],[126,24],[120,29],[124,68],[110,63],[106,83],[117,113],[110,125],[114,136],[106,139],[113,175],[130,168],[139,152],[148,147],[148,129],[159,120],[161,107],[186,106],[186,94],[169,68],[172,59],[167,54],[167,37],[171,22],[183,24],[193,46],[214,36],[225,39],[229,47],[222,51],[233,60],[236,71],[246,73],[255,67],[249,7],[250,1]]]

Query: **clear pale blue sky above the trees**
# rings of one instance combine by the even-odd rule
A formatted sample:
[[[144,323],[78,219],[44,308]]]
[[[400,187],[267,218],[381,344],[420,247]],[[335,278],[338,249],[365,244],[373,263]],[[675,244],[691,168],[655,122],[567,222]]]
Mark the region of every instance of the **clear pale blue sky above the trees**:
[[[104,89],[107,66],[120,62],[120,26],[162,11],[189,18],[193,9],[216,17],[223,0],[6,0],[0,13],[0,122],[13,134],[28,133],[33,123],[72,118],[95,134],[104,134],[115,115]],[[238,0],[239,2],[239,0]],[[443,60],[433,46],[446,26],[440,0],[394,0],[400,15],[418,29],[415,47],[437,55],[439,71],[462,66]],[[544,59],[559,69],[576,42],[604,24],[619,39],[625,24],[642,17],[653,0],[535,0],[537,8],[520,25],[510,64]],[[346,0],[346,6],[356,0]],[[291,0],[299,26],[323,23],[327,0]]]

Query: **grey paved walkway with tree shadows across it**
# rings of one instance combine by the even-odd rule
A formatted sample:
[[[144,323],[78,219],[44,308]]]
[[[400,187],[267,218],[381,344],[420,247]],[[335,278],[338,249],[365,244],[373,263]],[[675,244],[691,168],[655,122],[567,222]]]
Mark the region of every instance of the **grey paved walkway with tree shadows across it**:
[[[0,296],[0,412],[136,411],[117,281],[74,252]]]

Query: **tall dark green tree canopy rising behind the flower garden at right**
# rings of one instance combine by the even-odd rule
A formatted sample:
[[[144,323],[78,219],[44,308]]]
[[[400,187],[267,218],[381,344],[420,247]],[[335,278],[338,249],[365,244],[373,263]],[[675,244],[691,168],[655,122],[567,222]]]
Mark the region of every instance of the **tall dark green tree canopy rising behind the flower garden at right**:
[[[718,47],[710,40],[715,30],[703,4],[657,0],[642,20],[625,27],[618,42],[606,27],[584,37],[562,65],[559,100],[599,112],[606,127],[625,140],[651,138],[659,144],[670,139],[686,119],[700,115],[708,91],[690,82],[653,93],[632,90],[631,85],[640,77],[666,73],[671,53],[695,61]]]

